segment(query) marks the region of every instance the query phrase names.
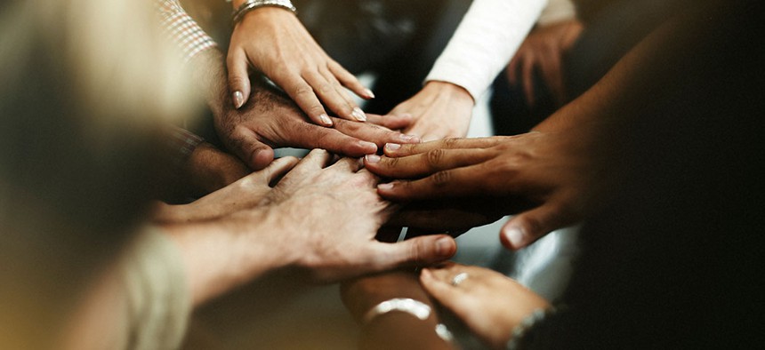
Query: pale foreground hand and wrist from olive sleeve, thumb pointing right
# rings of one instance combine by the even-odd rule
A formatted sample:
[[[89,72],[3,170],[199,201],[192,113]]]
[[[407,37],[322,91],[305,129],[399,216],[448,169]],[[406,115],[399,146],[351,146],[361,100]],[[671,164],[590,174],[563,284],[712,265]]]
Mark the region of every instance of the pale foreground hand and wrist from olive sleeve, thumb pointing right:
[[[163,226],[181,247],[195,304],[278,268],[295,268],[314,282],[335,282],[454,255],[455,242],[447,235],[402,243],[375,240],[393,210],[391,203],[376,194],[378,180],[361,169],[358,159],[331,159],[326,151],[313,150],[276,187],[266,189],[273,175],[292,162],[283,161],[221,189],[236,195],[210,195],[235,212]],[[260,196],[254,208],[238,210]]]

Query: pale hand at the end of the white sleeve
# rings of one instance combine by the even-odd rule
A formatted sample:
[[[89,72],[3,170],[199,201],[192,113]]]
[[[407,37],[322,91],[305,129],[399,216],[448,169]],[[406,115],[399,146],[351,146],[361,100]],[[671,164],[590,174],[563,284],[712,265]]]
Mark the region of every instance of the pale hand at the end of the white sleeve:
[[[411,115],[415,122],[404,133],[423,141],[462,138],[471,125],[475,105],[470,93],[455,84],[428,82],[423,90],[399,104],[389,115]]]

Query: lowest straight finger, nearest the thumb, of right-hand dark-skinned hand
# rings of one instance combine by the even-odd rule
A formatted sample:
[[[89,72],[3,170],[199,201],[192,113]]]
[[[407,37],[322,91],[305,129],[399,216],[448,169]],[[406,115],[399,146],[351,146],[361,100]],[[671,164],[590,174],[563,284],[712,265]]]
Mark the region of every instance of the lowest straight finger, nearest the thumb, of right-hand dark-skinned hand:
[[[377,185],[377,193],[393,201],[414,201],[492,192],[491,184],[476,178],[476,174],[483,173],[479,166],[438,171],[425,179],[380,184]]]

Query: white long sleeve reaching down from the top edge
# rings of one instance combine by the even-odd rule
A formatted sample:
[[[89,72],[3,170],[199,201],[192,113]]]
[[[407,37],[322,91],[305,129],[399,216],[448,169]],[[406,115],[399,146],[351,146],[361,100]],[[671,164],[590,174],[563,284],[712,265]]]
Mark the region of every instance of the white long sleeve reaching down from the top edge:
[[[534,26],[547,0],[474,0],[425,81],[462,86],[478,100]]]

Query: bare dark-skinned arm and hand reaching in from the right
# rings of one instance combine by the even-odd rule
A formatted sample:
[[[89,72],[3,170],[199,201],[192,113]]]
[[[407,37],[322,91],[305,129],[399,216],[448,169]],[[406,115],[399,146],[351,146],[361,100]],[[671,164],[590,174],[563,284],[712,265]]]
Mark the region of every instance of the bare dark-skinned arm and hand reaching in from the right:
[[[635,47],[607,76],[580,98],[537,125],[510,138],[445,140],[423,145],[388,145],[387,157],[367,157],[370,171],[411,179],[378,186],[396,201],[504,195],[527,208],[502,229],[502,242],[519,249],[548,232],[574,224],[596,211],[618,184],[622,163],[617,149],[653,91],[673,84],[684,67],[692,32],[674,32],[668,23]],[[690,41],[688,41],[690,40]],[[695,40],[695,39],[694,39]],[[687,64],[685,64],[687,66]],[[370,162],[374,159],[376,162]]]

